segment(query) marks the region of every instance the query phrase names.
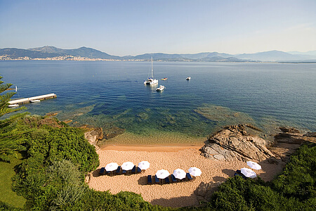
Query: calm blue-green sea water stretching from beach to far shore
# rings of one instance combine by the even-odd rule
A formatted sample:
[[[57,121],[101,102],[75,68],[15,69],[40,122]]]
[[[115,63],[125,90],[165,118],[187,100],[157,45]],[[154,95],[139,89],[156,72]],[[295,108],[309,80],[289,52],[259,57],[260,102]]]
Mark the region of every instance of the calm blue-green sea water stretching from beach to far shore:
[[[71,125],[144,135],[207,136],[237,123],[267,132],[284,125],[316,131],[315,64],[154,62],[166,87],[161,93],[143,84],[150,68],[127,61],[0,62],[2,80],[18,86],[13,98],[57,94],[25,105],[28,112],[58,112]]]

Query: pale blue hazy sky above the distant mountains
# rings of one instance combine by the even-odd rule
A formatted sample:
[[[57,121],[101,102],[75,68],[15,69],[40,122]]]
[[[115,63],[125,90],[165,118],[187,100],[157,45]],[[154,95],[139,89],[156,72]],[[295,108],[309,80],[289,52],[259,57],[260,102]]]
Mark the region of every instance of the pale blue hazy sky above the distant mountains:
[[[0,49],[315,51],[315,0],[0,0]]]

